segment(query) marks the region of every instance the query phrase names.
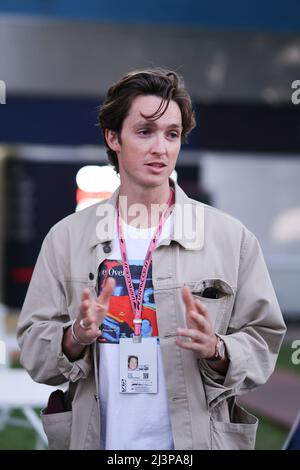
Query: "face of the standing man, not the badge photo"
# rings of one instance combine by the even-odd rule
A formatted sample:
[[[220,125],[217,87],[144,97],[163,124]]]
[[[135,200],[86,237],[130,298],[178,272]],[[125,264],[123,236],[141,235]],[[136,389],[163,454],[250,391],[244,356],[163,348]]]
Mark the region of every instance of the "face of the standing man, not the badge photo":
[[[156,112],[160,103],[157,96],[137,96],[123,122],[121,139],[115,138],[123,188],[168,184],[181,146],[182,119],[175,101],[156,121],[142,116]]]

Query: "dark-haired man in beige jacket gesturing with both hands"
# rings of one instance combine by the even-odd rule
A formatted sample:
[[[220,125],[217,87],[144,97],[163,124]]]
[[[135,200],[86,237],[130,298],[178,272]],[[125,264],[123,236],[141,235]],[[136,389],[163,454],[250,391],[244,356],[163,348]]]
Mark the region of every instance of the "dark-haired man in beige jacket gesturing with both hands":
[[[99,120],[120,187],[51,229],[18,326],[31,376],[69,381],[49,446],[253,448],[235,397],[268,379],[285,325],[254,235],[170,179],[195,124],[183,81],[131,72]]]

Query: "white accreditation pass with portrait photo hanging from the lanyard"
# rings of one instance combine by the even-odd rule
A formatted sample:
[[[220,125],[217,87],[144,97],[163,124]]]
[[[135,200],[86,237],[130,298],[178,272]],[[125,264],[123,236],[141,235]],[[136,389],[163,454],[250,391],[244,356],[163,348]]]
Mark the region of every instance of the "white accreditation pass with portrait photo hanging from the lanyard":
[[[120,338],[120,393],[157,393],[157,338]]]

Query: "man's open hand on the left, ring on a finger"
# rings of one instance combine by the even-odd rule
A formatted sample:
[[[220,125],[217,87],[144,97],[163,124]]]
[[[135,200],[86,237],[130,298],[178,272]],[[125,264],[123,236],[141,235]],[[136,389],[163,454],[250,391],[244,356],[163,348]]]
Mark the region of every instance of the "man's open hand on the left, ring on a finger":
[[[80,342],[92,343],[101,336],[99,326],[107,314],[115,284],[115,280],[109,277],[97,300],[92,297],[89,289],[84,289],[79,315],[74,324],[75,335]]]

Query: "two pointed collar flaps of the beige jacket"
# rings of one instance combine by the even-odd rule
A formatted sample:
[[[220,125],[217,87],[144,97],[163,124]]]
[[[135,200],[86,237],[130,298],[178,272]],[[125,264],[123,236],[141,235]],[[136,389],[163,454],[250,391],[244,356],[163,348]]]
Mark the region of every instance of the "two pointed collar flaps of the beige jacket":
[[[175,241],[187,250],[200,250],[204,245],[204,204],[190,199],[176,183],[174,189],[173,232],[170,239],[164,240],[162,244],[169,245]],[[118,196],[119,187],[110,199],[94,206],[95,225],[90,239],[91,247],[113,240]]]

